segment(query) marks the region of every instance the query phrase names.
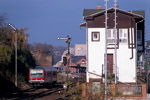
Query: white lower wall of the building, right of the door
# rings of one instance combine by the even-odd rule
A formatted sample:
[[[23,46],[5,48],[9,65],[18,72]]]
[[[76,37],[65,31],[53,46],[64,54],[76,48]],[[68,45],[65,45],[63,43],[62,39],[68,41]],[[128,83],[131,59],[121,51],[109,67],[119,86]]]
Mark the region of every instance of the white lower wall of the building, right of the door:
[[[117,75],[120,82],[136,82],[136,49],[133,49],[132,59],[130,59],[132,57],[131,50],[127,44],[121,43],[117,49]],[[114,55],[114,50],[109,49],[108,54]]]

